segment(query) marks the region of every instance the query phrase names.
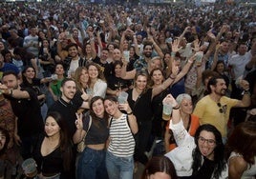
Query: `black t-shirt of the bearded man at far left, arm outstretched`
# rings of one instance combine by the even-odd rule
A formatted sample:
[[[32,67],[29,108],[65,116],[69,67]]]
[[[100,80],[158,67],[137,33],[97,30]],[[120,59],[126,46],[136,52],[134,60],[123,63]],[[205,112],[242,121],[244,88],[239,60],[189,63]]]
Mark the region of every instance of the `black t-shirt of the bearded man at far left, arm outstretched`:
[[[41,133],[44,129],[39,101],[33,89],[26,88],[30,94],[30,99],[15,99],[10,96],[11,107],[18,117],[17,128],[20,136],[31,136]]]

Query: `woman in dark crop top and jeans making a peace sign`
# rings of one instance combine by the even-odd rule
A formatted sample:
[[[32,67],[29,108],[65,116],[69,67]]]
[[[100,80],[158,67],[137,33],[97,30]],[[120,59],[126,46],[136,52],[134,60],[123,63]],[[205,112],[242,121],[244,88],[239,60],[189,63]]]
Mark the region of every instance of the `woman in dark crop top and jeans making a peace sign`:
[[[90,111],[86,114],[77,114],[76,116],[74,143],[81,142],[85,137],[86,145],[78,160],[76,178],[108,179],[105,167],[105,145],[109,136],[109,129],[108,114],[104,109],[103,98],[100,96],[93,97],[90,103]],[[88,120],[90,118],[92,118],[91,126]]]

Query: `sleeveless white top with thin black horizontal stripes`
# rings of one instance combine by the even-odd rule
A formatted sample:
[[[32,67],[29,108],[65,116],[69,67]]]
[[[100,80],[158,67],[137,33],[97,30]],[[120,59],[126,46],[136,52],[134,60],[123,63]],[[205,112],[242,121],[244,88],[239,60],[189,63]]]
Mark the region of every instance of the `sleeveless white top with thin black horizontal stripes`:
[[[128,157],[134,154],[135,140],[126,114],[118,119],[113,118],[110,124],[110,144],[108,151],[117,157]]]

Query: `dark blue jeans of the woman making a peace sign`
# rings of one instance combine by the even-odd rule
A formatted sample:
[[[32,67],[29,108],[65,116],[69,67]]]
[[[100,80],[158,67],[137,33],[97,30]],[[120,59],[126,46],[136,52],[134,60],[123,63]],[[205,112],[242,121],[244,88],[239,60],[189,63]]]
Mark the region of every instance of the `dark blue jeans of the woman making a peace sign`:
[[[108,179],[106,150],[85,148],[78,160],[77,179]]]

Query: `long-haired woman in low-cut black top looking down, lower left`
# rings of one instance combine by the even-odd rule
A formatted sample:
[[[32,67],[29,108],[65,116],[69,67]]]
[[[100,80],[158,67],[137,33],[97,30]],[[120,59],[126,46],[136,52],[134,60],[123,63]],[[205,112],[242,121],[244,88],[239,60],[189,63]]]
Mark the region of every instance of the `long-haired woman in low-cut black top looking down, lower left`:
[[[39,177],[72,177],[73,150],[66,121],[58,112],[49,112],[45,134],[39,137],[34,150]]]

